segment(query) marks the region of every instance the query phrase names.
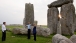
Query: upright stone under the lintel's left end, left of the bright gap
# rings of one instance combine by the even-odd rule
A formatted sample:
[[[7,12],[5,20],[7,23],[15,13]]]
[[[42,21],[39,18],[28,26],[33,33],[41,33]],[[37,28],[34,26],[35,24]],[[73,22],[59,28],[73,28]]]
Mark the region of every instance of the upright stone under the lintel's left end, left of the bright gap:
[[[48,28],[50,28],[51,34],[57,32],[58,14],[59,11],[56,7],[52,7],[48,9],[47,26]]]

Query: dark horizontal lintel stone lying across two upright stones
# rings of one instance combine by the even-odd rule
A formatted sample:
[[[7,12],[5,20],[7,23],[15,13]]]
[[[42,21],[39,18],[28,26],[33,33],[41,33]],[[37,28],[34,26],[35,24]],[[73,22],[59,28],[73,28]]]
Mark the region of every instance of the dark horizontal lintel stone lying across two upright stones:
[[[73,3],[73,0],[57,0],[48,5],[48,8],[51,7],[61,7],[64,4]]]

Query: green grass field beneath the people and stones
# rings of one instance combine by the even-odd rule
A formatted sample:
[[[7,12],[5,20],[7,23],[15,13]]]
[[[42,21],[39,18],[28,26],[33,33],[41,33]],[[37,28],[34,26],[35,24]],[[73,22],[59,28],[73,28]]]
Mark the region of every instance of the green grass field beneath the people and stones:
[[[13,29],[14,26],[8,26],[8,28]],[[27,35],[14,35],[13,33],[7,31],[7,37],[5,42],[1,41],[2,39],[1,37],[2,37],[2,32],[0,30],[0,43],[52,43],[53,35],[50,35],[49,37],[37,36],[37,41],[34,41],[33,35],[31,35],[31,39],[28,40]],[[70,36],[66,36],[66,37],[70,38]]]

